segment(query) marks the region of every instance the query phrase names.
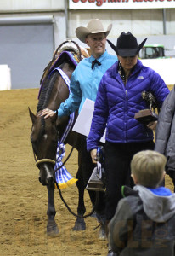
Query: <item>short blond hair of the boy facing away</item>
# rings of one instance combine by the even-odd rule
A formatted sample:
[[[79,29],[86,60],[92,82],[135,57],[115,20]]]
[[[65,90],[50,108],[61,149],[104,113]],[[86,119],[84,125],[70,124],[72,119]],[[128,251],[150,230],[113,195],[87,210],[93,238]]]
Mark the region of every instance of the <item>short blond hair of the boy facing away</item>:
[[[138,184],[156,188],[161,183],[167,158],[158,152],[151,150],[140,151],[134,154],[131,161],[131,172],[137,178]]]

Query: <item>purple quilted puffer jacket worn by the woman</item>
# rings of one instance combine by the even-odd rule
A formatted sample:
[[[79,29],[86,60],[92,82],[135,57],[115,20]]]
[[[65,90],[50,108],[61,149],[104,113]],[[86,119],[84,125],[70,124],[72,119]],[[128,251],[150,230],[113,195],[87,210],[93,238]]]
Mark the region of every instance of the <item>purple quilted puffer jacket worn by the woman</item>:
[[[158,73],[150,67],[144,67],[138,60],[127,84],[123,84],[118,73],[118,61],[102,77],[95,102],[91,130],[87,148],[97,148],[100,138],[111,143],[139,143],[153,140],[153,132],[142,125],[134,114],[148,108],[143,100],[142,91],[150,91],[159,108],[169,90]]]

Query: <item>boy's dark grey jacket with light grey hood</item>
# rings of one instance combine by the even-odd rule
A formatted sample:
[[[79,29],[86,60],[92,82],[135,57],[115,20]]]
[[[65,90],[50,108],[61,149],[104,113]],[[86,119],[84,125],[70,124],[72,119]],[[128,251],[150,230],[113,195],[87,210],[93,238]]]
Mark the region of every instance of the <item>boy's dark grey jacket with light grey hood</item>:
[[[155,195],[137,185],[124,187],[109,224],[109,246],[120,256],[173,256],[175,245],[175,194]]]

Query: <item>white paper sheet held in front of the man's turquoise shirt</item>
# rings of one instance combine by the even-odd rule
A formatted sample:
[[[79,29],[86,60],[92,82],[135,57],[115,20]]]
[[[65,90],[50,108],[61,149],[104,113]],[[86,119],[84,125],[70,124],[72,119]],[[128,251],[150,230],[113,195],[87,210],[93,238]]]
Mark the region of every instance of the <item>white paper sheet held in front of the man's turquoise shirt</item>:
[[[86,99],[82,106],[82,110],[76,119],[76,123],[72,128],[73,131],[76,131],[88,137],[89,131],[91,129],[91,122],[93,119],[94,103],[95,102]],[[100,142],[105,143],[105,132],[103,137],[101,137]]]

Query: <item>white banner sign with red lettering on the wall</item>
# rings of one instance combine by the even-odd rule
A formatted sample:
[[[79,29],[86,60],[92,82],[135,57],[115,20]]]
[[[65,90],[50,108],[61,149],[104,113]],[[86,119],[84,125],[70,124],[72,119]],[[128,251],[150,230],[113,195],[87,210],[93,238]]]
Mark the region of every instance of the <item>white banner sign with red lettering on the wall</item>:
[[[69,9],[164,9],[175,0],[69,0]]]

